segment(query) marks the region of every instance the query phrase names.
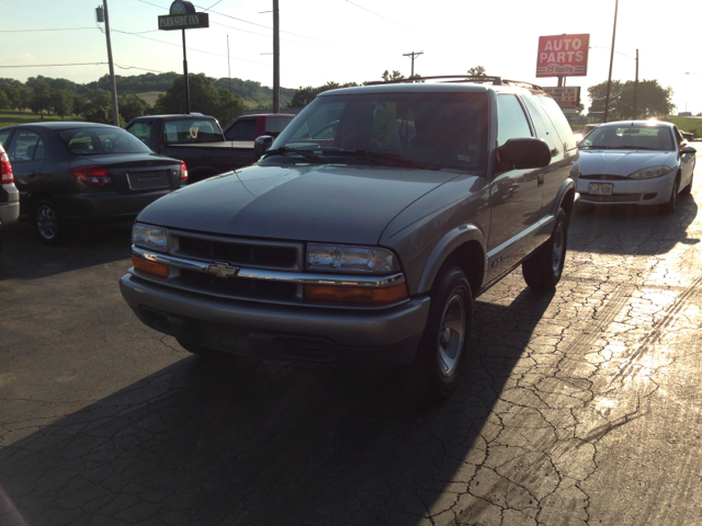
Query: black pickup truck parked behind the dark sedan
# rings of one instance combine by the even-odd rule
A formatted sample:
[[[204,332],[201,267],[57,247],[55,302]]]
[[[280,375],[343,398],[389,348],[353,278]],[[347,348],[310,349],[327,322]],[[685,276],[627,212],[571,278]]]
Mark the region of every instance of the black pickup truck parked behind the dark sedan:
[[[227,140],[217,119],[201,113],[136,117],[125,129],[155,152],[185,161],[191,183],[256,161],[253,139]]]

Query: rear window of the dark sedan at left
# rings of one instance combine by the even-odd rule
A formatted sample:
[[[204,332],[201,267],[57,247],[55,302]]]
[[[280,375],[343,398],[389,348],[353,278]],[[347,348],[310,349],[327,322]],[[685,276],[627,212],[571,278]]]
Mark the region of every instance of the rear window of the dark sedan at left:
[[[150,153],[148,146],[117,127],[75,128],[58,135],[75,156],[104,153]]]

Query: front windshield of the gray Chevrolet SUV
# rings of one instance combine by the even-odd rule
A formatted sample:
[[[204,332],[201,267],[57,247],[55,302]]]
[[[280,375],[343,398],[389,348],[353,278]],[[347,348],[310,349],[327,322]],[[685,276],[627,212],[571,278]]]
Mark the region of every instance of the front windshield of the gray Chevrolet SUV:
[[[487,150],[487,94],[318,96],[273,142],[270,151],[275,155],[276,150],[285,155],[285,161],[278,157],[276,162],[292,159],[434,170],[483,169]],[[306,155],[303,157],[301,151]]]

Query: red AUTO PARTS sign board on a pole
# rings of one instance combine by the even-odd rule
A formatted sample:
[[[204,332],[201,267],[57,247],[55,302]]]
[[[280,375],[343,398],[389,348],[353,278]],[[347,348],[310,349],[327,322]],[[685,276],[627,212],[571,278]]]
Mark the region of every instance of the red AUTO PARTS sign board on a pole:
[[[587,34],[540,36],[536,77],[585,77],[589,47]]]

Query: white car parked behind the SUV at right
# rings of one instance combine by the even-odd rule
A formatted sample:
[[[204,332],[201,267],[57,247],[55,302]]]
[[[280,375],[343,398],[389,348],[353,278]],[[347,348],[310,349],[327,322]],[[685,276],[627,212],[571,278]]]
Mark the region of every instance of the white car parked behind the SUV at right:
[[[579,145],[581,203],[659,205],[672,213],[690,193],[697,150],[678,127],[660,121],[600,125]]]

